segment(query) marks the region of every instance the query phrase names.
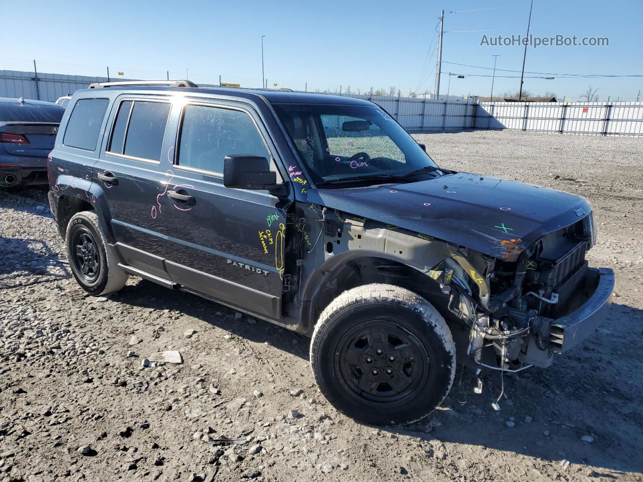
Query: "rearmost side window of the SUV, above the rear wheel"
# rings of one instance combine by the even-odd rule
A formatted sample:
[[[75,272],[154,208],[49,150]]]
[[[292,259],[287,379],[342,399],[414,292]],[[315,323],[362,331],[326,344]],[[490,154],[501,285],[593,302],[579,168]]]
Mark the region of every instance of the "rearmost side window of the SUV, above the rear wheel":
[[[71,111],[62,143],[69,147],[96,150],[107,104],[109,104],[107,99],[78,100]]]

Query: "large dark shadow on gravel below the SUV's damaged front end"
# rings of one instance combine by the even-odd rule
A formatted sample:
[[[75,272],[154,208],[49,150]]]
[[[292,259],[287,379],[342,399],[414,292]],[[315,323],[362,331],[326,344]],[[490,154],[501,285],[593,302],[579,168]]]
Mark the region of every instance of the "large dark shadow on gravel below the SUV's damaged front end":
[[[642,325],[643,310],[612,305],[601,328],[582,346],[554,355],[550,368],[505,374],[499,412],[491,402],[500,395],[500,373],[483,373],[483,393],[476,395],[475,370],[460,367],[434,415],[386,430],[540,458],[563,476],[567,460],[584,465],[582,473],[591,477],[638,479],[643,467]],[[534,477],[521,472],[527,468],[514,475]]]

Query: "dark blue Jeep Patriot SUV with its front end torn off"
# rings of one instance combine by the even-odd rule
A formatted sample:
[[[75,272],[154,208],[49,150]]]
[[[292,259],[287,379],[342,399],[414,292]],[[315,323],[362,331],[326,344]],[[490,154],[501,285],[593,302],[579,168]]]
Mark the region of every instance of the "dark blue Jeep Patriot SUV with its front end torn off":
[[[365,100],[95,84],[48,166],[82,289],[139,276],[303,332],[321,392],[372,424],[431,413],[457,359],[548,366],[611,303],[585,199],[441,168]]]

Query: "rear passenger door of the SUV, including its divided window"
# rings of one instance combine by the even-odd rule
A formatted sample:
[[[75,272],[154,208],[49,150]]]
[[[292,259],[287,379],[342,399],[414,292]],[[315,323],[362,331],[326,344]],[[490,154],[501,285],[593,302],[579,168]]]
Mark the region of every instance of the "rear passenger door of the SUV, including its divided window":
[[[109,138],[93,172],[102,185],[120,258],[164,279],[158,194],[167,184],[161,159],[167,158],[164,138],[171,108],[167,97],[117,98],[107,124]]]

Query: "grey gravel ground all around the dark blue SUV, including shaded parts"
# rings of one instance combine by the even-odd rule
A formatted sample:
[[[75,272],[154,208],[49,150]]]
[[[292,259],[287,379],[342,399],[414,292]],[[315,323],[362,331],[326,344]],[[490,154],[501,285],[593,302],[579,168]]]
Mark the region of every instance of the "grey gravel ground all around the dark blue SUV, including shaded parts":
[[[359,425],[314,387],[305,337],[138,278],[87,297],[46,192],[3,190],[0,481],[641,480],[643,139],[415,137],[442,166],[592,201],[590,263],[617,286],[581,348],[506,376],[500,412],[498,374],[475,395],[464,371],[421,423]],[[164,350],[183,363],[142,368]]]

